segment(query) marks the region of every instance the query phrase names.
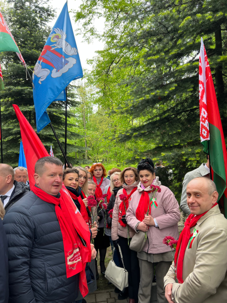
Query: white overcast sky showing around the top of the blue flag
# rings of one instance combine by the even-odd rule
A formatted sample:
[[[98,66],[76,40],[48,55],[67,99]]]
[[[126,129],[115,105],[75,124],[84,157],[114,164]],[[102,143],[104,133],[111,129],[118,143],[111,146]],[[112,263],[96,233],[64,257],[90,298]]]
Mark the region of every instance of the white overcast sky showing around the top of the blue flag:
[[[79,9],[79,6],[81,3],[82,3],[81,0],[68,0],[68,10],[70,11],[70,10]],[[56,8],[56,18],[54,18],[54,20],[49,23],[49,25],[51,27],[54,26],[58,16],[61,13],[61,10],[62,10],[64,4],[65,4],[65,1],[62,1],[62,0],[51,0],[50,1],[50,5],[53,8]],[[70,13],[69,15],[70,15],[73,31],[75,32],[75,29],[77,28],[78,25],[76,25],[74,22],[74,18],[73,18],[74,14]],[[95,20],[94,25],[100,33],[103,32],[104,20],[97,19],[97,20]],[[81,25],[79,25],[79,26],[81,26]],[[97,39],[94,40],[94,42],[91,44],[88,44],[87,42],[82,42],[83,41],[82,35],[75,36],[75,39],[76,39],[76,43],[77,43],[77,50],[79,52],[80,59],[81,59],[82,68],[91,70],[92,66],[88,65],[86,61],[87,61],[87,59],[92,59],[96,55],[95,51],[102,50],[104,48],[104,44],[102,42],[98,41]]]

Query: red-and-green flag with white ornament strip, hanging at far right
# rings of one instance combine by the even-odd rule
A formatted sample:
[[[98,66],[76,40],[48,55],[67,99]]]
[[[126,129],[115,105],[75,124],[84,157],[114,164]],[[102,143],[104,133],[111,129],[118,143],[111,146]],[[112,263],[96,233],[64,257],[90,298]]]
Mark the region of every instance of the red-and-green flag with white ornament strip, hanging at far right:
[[[227,218],[227,152],[214,83],[202,38],[199,57],[199,108],[203,151],[206,154],[209,153],[212,180],[217,187],[219,199],[224,194],[225,217]]]

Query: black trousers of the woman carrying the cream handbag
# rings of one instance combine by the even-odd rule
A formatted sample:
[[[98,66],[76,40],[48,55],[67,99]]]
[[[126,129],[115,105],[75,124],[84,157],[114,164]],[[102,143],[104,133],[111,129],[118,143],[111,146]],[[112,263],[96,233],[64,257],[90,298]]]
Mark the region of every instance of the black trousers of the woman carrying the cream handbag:
[[[121,248],[125,269],[128,271],[128,291],[129,298],[138,303],[138,291],[140,285],[140,266],[137,258],[137,252],[128,246],[128,239],[119,236],[119,245]]]

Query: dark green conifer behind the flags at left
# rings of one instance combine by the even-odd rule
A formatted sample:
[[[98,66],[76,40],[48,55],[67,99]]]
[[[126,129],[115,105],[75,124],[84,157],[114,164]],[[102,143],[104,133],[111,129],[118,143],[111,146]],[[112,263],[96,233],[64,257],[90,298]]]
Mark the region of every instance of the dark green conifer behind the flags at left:
[[[3,12],[8,27],[21,51],[28,70],[32,75],[34,65],[44,47],[51,28],[47,23],[54,17],[54,11],[48,1],[16,0],[9,1],[10,8]],[[18,165],[19,143],[21,134],[19,123],[12,104],[17,104],[29,123],[36,130],[35,109],[33,103],[32,86],[26,80],[25,69],[20,64],[16,53],[4,52],[0,55],[3,67],[5,90],[1,92],[2,105],[2,136],[3,136],[3,161],[13,166]],[[68,94],[68,106],[74,105],[74,95]],[[48,114],[56,130],[59,140],[64,145],[64,107],[65,102],[53,102],[48,108]],[[69,117],[70,112],[68,111]],[[61,151],[54,138],[50,126],[46,126],[39,134],[47,150],[52,145],[54,155],[63,160]],[[80,136],[74,132],[67,132],[70,141],[67,152],[71,155],[75,141]],[[69,157],[73,161],[73,157]]]

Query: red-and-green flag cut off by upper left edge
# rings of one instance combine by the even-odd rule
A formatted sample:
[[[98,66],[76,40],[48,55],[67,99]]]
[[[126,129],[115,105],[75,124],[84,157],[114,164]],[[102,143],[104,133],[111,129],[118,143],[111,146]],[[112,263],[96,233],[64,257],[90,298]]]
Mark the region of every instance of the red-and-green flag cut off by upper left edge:
[[[16,52],[22,64],[25,66],[25,60],[19,51],[19,48],[0,12],[0,52]]]

